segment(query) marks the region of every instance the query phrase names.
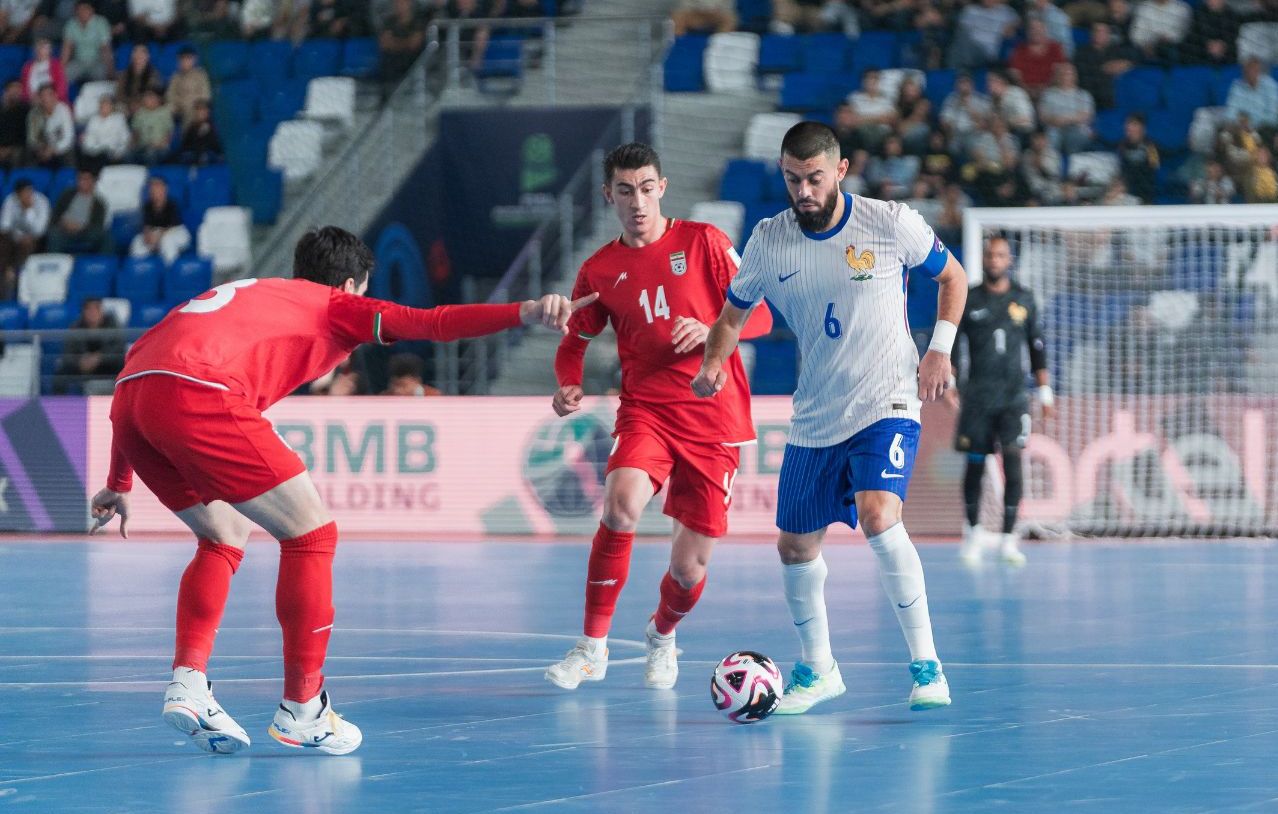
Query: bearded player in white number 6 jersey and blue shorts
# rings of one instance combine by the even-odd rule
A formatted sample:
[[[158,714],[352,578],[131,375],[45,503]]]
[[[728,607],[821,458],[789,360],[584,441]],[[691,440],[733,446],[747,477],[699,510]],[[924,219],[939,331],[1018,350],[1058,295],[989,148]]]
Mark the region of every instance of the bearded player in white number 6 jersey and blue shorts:
[[[910,648],[910,708],[944,707],[950,686],[901,510],[921,403],[947,387],[967,277],[918,212],[840,192],[847,161],[824,124],[801,121],[786,133],[781,171],[790,210],[755,227],[693,380],[700,396],[725,386],[725,360],[764,296],[799,337],[803,369],[777,489],[777,549],[803,658],[777,714],[806,712],[846,690],[829,647],[820,546],[831,524],[856,528],[858,520]],[[938,321],[921,362],[905,316],[910,273],[939,284]]]

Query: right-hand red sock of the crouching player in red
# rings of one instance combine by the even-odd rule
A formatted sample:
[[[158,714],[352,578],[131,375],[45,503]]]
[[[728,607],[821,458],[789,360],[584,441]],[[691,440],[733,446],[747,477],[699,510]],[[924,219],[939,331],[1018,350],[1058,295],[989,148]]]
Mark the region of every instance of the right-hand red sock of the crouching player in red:
[[[275,616],[284,631],[284,699],[305,703],[323,686],[332,633],[332,555],[337,524],[280,541]]]

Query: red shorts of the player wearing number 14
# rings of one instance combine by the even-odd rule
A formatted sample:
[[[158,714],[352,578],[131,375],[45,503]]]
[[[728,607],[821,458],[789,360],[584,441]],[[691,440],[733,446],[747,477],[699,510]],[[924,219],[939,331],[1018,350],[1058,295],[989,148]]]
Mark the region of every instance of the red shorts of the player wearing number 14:
[[[741,460],[737,447],[685,441],[635,422],[617,424],[613,437],[607,472],[643,469],[657,492],[670,478],[663,509],[668,516],[707,537],[727,534],[727,507]]]

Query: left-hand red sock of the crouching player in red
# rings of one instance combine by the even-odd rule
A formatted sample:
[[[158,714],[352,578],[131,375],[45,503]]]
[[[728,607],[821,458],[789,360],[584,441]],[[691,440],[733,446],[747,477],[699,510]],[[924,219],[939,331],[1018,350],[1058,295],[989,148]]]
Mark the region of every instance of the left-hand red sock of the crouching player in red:
[[[217,625],[222,621],[231,576],[244,558],[244,549],[202,539],[196,557],[181,572],[178,588],[178,644],[173,667],[190,667],[208,672],[208,654],[213,652]]]

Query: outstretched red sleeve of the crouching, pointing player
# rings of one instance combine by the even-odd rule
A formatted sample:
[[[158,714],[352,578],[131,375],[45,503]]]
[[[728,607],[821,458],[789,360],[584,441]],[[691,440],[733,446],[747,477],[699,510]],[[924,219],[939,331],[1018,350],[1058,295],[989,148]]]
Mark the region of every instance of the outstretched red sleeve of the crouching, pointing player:
[[[447,342],[521,325],[519,303],[409,308],[337,289],[328,299],[328,323],[334,335],[351,349],[364,342],[386,345],[401,339]]]

